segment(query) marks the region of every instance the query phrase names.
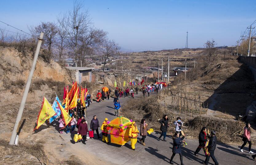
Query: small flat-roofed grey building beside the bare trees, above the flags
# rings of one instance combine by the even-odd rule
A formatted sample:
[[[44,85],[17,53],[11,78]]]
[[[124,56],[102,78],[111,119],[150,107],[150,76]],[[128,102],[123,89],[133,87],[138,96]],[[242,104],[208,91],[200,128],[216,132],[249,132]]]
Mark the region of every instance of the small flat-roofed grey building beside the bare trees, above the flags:
[[[81,84],[83,81],[92,82],[92,69],[88,67],[66,67],[71,71],[71,78]]]

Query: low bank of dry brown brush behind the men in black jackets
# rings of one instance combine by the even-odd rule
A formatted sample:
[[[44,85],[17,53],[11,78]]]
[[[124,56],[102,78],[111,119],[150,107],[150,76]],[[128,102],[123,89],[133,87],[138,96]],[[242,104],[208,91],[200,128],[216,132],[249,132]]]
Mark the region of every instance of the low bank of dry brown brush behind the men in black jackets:
[[[238,142],[241,141],[243,128],[245,124],[241,121],[221,120],[198,116],[189,121],[190,135],[198,136],[200,130],[206,127],[217,132],[216,136],[221,142]]]

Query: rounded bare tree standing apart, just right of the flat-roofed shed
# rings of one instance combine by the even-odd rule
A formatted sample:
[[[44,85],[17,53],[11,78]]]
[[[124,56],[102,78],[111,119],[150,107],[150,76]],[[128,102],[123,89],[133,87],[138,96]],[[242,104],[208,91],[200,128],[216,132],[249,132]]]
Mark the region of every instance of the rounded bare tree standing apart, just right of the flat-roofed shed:
[[[100,48],[100,59],[102,62],[104,62],[102,71],[105,69],[108,57],[116,54],[119,49],[120,47],[113,40],[105,40],[103,42],[102,47]]]

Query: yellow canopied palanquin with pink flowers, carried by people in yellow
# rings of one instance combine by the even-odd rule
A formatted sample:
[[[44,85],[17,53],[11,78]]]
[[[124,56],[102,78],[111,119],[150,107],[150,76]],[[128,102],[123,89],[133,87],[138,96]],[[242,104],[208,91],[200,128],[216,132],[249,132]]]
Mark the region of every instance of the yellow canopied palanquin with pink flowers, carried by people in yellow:
[[[131,139],[129,138],[129,130],[132,121],[125,117],[117,117],[113,119],[108,126],[110,127],[111,143],[124,145]]]

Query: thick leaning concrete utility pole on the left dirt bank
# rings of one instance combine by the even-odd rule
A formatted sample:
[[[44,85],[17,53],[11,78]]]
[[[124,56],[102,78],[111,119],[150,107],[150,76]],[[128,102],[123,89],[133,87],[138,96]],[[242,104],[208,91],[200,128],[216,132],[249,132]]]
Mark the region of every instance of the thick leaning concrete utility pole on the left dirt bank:
[[[14,142],[15,142],[15,139],[16,139],[16,136],[17,136],[17,129],[18,129],[19,123],[21,121],[22,113],[23,113],[23,110],[24,110],[24,106],[25,106],[25,103],[26,103],[27,96],[28,96],[28,92],[29,92],[31,80],[32,80],[32,77],[33,77],[33,73],[34,73],[34,70],[35,70],[35,67],[36,67],[37,58],[38,58],[41,43],[42,43],[42,40],[43,40],[43,36],[44,36],[44,33],[41,32],[40,36],[38,38],[37,49],[36,49],[36,52],[35,52],[35,55],[34,55],[32,67],[31,67],[31,70],[30,70],[30,73],[29,73],[29,76],[28,76],[28,80],[27,80],[27,84],[26,84],[26,87],[25,87],[25,90],[24,90],[24,94],[23,94],[23,97],[22,97],[22,100],[21,100],[21,104],[20,104],[20,108],[19,108],[18,115],[17,115],[17,118],[16,118],[16,122],[15,122],[14,127],[13,127],[13,131],[12,131],[12,135],[11,135],[11,139],[10,139],[10,143],[9,143],[10,145],[14,145]]]

